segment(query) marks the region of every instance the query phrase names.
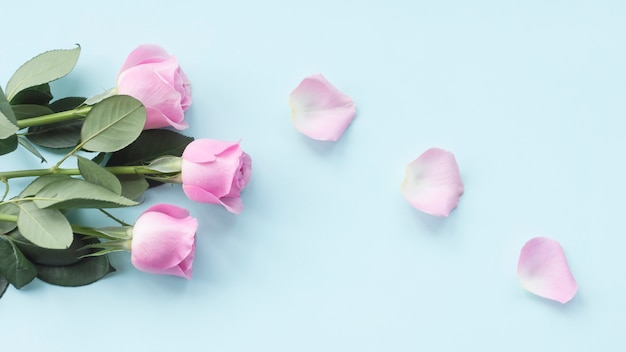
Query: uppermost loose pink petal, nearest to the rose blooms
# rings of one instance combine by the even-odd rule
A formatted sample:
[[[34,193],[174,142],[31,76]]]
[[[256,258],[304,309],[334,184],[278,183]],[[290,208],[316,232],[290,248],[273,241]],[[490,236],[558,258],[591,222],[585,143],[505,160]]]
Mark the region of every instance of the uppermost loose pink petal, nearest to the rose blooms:
[[[352,99],[321,74],[302,80],[289,95],[289,106],[295,128],[321,141],[338,140],[356,115]]]

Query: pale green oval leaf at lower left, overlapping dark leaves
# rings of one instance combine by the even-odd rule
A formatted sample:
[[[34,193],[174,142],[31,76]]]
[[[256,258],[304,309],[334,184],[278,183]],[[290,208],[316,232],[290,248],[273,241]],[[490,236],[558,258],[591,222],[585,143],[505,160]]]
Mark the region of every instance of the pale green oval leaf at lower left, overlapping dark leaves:
[[[34,202],[18,204],[17,228],[33,244],[50,249],[64,249],[72,244],[72,226],[58,209],[41,209]]]

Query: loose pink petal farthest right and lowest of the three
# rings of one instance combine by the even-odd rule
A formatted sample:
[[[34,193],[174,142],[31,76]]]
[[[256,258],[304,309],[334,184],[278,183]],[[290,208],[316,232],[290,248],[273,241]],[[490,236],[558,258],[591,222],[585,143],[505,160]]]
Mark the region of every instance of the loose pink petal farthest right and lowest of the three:
[[[528,291],[561,303],[571,300],[578,290],[563,248],[559,242],[546,237],[526,242],[520,253],[517,275]]]

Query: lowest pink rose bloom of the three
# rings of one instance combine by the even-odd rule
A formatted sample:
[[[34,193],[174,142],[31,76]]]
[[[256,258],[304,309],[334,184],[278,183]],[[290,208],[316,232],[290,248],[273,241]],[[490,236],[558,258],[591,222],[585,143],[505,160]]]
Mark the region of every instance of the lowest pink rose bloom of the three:
[[[131,262],[145,272],[191,278],[198,221],[186,209],[154,205],[133,227]]]

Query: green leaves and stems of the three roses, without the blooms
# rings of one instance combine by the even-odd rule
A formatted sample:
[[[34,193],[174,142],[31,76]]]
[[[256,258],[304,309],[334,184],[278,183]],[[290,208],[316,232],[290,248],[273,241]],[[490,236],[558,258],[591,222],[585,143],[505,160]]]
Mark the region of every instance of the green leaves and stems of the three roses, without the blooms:
[[[193,140],[170,130],[143,131],[145,107],[114,90],[54,100],[50,82],[68,75],[79,54],[79,46],[40,54],[0,88],[0,155],[22,146],[45,162],[41,148],[67,151],[48,169],[0,172],[7,187],[0,199],[0,297],[8,285],[21,288],[35,278],[80,286],[115,271],[107,254],[129,240],[128,226],[103,209],[137,205],[149,186],[175,179],[179,170],[148,165],[182,155]],[[76,168],[61,168],[68,159]],[[8,180],[24,176],[35,178],[5,199]],[[121,230],[73,224],[68,214],[77,208],[106,214]]]

